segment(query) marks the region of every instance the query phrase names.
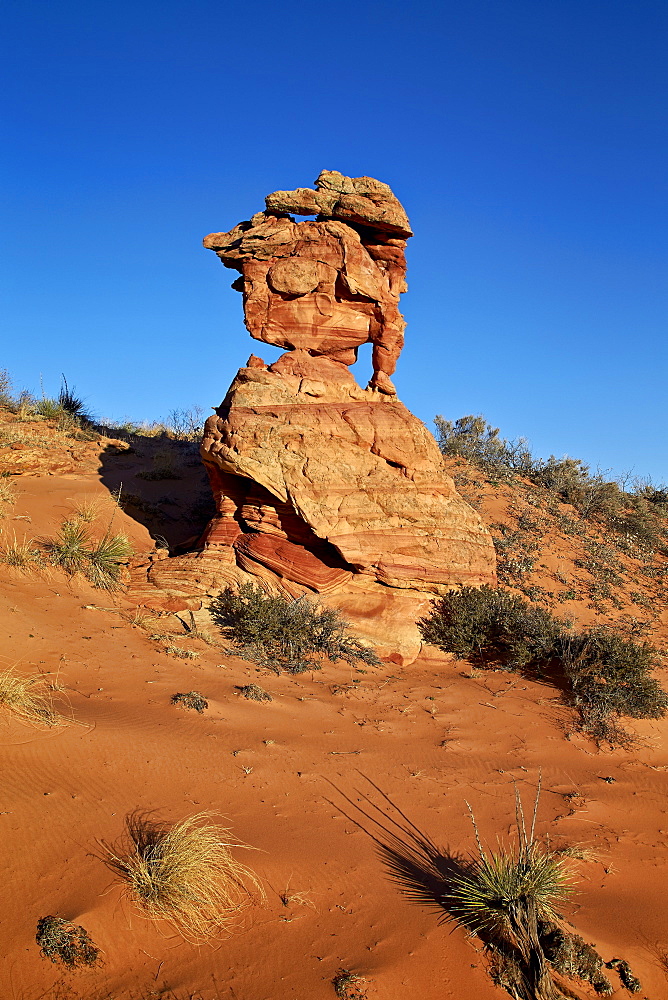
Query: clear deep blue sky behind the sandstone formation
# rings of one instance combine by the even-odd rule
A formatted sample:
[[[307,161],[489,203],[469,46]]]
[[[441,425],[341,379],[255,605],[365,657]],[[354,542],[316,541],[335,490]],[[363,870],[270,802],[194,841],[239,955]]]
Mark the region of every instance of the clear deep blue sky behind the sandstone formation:
[[[18,388],[217,405],[276,352],[201,238],[326,167],[413,223],[415,413],[668,479],[666,0],[9,0],[3,28]]]

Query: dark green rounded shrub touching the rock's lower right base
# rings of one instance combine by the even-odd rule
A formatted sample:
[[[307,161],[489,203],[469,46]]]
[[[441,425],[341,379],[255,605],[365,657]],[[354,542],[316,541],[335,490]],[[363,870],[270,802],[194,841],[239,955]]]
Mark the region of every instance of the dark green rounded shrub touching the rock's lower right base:
[[[509,669],[548,662],[564,627],[544,608],[488,586],[450,591],[432,601],[429,615],[418,622],[425,642],[461,659]]]

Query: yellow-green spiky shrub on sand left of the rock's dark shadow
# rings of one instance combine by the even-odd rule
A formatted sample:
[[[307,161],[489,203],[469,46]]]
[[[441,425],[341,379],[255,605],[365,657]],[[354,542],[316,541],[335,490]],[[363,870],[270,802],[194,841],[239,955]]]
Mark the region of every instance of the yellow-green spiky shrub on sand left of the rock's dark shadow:
[[[57,536],[44,544],[54,566],[71,576],[83,573],[94,587],[105,590],[118,586],[121,567],[132,552],[126,536],[112,535],[110,529],[93,539],[85,520],[76,515],[63,521]]]

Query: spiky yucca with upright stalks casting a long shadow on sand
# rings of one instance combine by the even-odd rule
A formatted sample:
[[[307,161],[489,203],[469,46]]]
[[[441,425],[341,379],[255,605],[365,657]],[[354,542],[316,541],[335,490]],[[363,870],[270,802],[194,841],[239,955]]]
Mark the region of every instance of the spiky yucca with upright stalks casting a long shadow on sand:
[[[557,907],[572,891],[567,859],[535,839],[539,798],[540,782],[527,831],[515,789],[517,841],[499,844],[495,851],[483,847],[471,813],[478,850],[449,886],[448,909],[457,920],[492,944],[517,949],[516,987],[523,1000],[560,996],[540,942],[539,922],[558,920]]]

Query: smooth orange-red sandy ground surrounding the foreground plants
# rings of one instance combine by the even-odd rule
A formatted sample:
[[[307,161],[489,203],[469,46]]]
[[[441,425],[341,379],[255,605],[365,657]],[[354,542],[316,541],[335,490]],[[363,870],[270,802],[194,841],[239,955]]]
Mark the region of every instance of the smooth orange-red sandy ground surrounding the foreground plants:
[[[108,495],[94,467],[18,482],[14,526],[32,537]],[[115,518],[136,551],[151,547],[146,528]],[[447,921],[420,869],[474,848],[466,802],[484,839],[506,837],[513,784],[531,805],[541,772],[539,832],[595,852],[574,862],[566,916],[604,959],[631,963],[640,996],[668,997],[668,722],[636,724],[644,745],[603,752],[547,683],[435,654],[277,676],[189,638],[174,616],[133,625],[133,611],[58,570],[0,565],[0,665],[57,680],[71,720],[45,729],[0,715],[2,1000],[332,1000],[342,968],[368,980],[369,1000],[502,998],[481,943]],[[198,657],[166,652],[152,630]],[[249,681],[273,701],[240,697]],[[202,715],[171,704],[192,689],[208,699]],[[143,918],[96,856],[137,809],[216,813],[255,849],[236,853],[266,900],[199,947]],[[82,924],[103,964],[64,972],[42,958],[47,914]]]

